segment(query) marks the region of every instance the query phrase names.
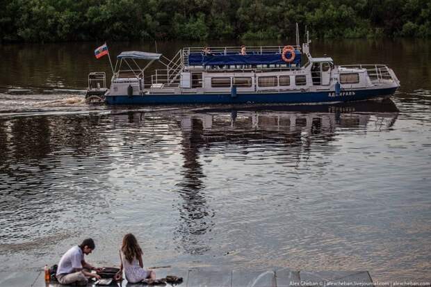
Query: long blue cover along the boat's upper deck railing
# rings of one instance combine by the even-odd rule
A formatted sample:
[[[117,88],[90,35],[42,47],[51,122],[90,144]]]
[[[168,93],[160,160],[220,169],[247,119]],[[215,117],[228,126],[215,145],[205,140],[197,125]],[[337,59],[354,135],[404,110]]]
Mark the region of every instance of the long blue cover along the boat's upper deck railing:
[[[290,57],[290,52],[286,53]],[[300,65],[301,52],[295,50],[295,59],[292,64]],[[188,65],[269,65],[269,64],[286,64],[282,59],[282,54],[274,52],[247,53],[241,55],[234,52],[227,53],[190,53],[188,56]]]

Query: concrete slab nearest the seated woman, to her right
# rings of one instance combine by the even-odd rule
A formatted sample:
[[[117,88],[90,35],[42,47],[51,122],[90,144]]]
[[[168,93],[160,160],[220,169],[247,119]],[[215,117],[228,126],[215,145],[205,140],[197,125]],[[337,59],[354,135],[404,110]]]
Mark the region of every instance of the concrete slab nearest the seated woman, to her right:
[[[188,272],[187,287],[231,287],[232,272],[192,269]]]

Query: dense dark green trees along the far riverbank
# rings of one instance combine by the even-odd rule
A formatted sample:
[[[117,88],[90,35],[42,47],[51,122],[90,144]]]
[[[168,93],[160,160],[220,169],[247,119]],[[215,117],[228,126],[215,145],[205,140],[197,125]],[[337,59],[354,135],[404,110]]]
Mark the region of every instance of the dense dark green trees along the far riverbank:
[[[0,0],[1,41],[431,36],[423,0]]]

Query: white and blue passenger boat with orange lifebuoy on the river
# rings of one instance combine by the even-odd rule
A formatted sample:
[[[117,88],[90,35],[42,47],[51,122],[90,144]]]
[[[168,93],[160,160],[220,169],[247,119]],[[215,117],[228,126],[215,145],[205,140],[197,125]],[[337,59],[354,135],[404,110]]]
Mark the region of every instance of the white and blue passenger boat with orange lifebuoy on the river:
[[[147,69],[154,61],[163,69]],[[142,62],[142,63],[141,63]],[[386,65],[334,65],[300,47],[186,47],[171,59],[145,51],[117,56],[111,87],[89,75],[89,101],[129,104],[316,104],[393,95],[400,86]]]

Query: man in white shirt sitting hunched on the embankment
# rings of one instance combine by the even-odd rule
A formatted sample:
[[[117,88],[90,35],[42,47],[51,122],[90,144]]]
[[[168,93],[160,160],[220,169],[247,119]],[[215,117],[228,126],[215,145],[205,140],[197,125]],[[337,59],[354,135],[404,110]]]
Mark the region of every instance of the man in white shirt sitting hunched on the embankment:
[[[88,270],[99,270],[84,260],[84,254],[90,254],[96,245],[91,238],[83,240],[81,245],[70,248],[60,259],[57,268],[57,280],[60,284],[86,286],[88,277],[100,279],[100,276]],[[84,269],[85,268],[85,269]]]

